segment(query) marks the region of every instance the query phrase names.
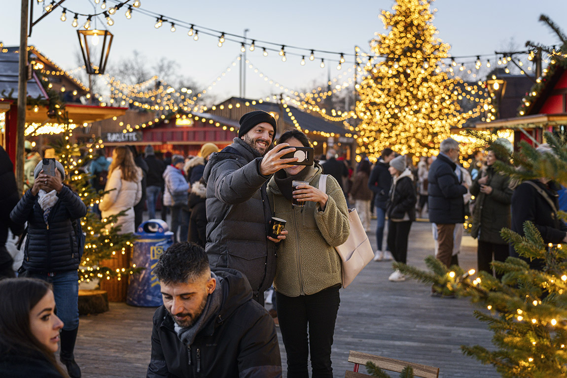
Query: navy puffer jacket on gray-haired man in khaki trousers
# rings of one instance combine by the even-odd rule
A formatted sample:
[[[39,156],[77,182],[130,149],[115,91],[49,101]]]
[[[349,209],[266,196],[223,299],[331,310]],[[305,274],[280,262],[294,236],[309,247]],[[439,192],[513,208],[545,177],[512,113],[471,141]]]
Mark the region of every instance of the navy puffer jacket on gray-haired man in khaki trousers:
[[[429,220],[434,223],[463,223],[463,194],[467,188],[459,183],[455,174],[456,164],[439,154],[431,164],[428,175]]]

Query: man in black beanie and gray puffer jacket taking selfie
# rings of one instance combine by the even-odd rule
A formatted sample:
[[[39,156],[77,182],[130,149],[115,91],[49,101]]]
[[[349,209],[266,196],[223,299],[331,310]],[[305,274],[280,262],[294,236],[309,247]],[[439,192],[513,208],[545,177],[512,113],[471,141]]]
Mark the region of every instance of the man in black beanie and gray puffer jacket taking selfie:
[[[276,274],[276,245],[285,239],[268,237],[272,210],[266,183],[287,163],[281,159],[295,151],[281,143],[268,151],[276,134],[271,114],[255,111],[240,118],[238,138],[220,152],[211,154],[203,177],[207,185],[207,243],[211,267],[242,272],[252,286],[253,297],[264,304],[264,291]]]

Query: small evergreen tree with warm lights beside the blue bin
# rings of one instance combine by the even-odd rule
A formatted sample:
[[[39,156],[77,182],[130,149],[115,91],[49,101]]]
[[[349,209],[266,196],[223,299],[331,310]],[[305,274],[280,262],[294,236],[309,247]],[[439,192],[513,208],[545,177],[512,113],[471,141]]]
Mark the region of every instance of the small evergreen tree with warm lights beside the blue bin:
[[[84,173],[81,169],[90,159],[92,159],[93,148],[88,147],[86,156],[81,153],[81,146],[71,145],[69,138],[71,130],[65,131],[62,138],[54,142],[51,146],[55,150],[58,160],[65,167],[65,184],[78,193],[84,204],[87,206],[87,215],[81,219],[83,232],[86,233],[84,253],[79,266],[80,281],[90,282],[92,279],[110,279],[116,277],[119,281],[135,273],[139,269],[136,266],[111,269],[102,266],[101,262],[111,259],[119,254],[129,253],[129,248],[133,244],[133,233],[119,233],[120,226],[115,227],[119,216],[125,215],[125,211],[111,215],[108,218],[100,217],[92,211],[95,203],[99,203],[105,193],[96,190],[91,185],[92,175]]]

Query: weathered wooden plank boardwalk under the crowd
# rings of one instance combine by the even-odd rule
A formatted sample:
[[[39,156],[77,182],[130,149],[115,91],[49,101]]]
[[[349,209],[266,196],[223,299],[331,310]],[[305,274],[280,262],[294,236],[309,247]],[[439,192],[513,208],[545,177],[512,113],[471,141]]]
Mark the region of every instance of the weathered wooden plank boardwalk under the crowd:
[[[374,233],[370,238],[375,245]],[[431,224],[414,223],[409,239],[408,264],[424,267],[424,258],[433,253]],[[459,260],[463,267],[476,268],[476,240],[463,237]],[[492,337],[473,317],[475,307],[467,299],[431,298],[424,284],[389,282],[391,271],[390,262],[373,261],[341,290],[332,350],[335,377],[352,370],[349,350],[439,367],[443,378],[499,376],[460,351],[463,344],[490,347]],[[145,377],[155,309],[123,303],[111,303],[110,308],[100,315],[81,316],[75,354],[83,377]],[[280,349],[285,371],[281,337]]]

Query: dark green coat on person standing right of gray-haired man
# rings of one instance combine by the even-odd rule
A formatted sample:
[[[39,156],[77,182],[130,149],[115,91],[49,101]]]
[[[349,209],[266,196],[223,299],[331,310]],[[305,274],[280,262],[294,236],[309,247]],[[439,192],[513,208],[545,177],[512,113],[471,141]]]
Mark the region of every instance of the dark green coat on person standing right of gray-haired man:
[[[480,192],[479,179],[488,176],[486,185],[492,187],[492,193]],[[475,208],[472,211],[472,237],[494,244],[508,244],[502,236],[502,228],[510,228],[510,204],[513,190],[509,187],[509,177],[494,172],[488,167],[473,181],[470,191],[476,197]],[[480,233],[480,235],[479,235]]]

